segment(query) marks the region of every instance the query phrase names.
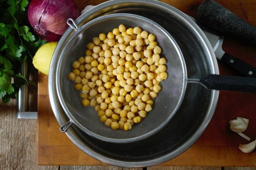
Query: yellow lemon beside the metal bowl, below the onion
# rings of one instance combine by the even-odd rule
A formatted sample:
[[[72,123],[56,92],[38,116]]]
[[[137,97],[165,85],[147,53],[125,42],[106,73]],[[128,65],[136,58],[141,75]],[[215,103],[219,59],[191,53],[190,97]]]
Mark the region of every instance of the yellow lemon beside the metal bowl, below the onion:
[[[49,74],[49,67],[53,52],[58,42],[51,42],[40,47],[33,57],[33,65],[44,74]]]

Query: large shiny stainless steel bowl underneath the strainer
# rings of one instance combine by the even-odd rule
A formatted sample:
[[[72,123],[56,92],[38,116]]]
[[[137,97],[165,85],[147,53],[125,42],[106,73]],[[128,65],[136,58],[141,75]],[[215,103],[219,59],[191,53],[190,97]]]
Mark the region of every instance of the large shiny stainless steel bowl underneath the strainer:
[[[76,23],[86,22],[112,13],[132,13],[147,17],[165,28],[176,40],[186,62],[188,78],[198,79],[218,74],[217,61],[208,39],[184,13],[160,1],[112,0],[90,9]],[[68,121],[56,94],[54,72],[63,46],[74,34],[69,28],[61,37],[49,70],[49,97],[60,125]],[[188,84],[180,109],[169,124],[150,138],[127,144],[104,142],[83,133],[76,126],[66,132],[70,140],[88,155],[107,164],[121,167],[153,166],[170,160],[188,149],[210,122],[218,100],[218,91],[199,84]]]

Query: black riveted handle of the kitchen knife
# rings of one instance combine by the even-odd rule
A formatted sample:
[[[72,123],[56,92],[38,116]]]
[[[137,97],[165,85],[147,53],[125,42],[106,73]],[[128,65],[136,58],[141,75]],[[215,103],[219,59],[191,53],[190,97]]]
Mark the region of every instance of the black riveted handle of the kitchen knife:
[[[227,65],[232,67],[233,69],[239,71],[241,74],[243,74],[246,77],[256,78],[256,68],[251,66],[248,63],[245,63],[242,60],[239,60],[238,58],[225,53],[221,61],[225,62]]]

